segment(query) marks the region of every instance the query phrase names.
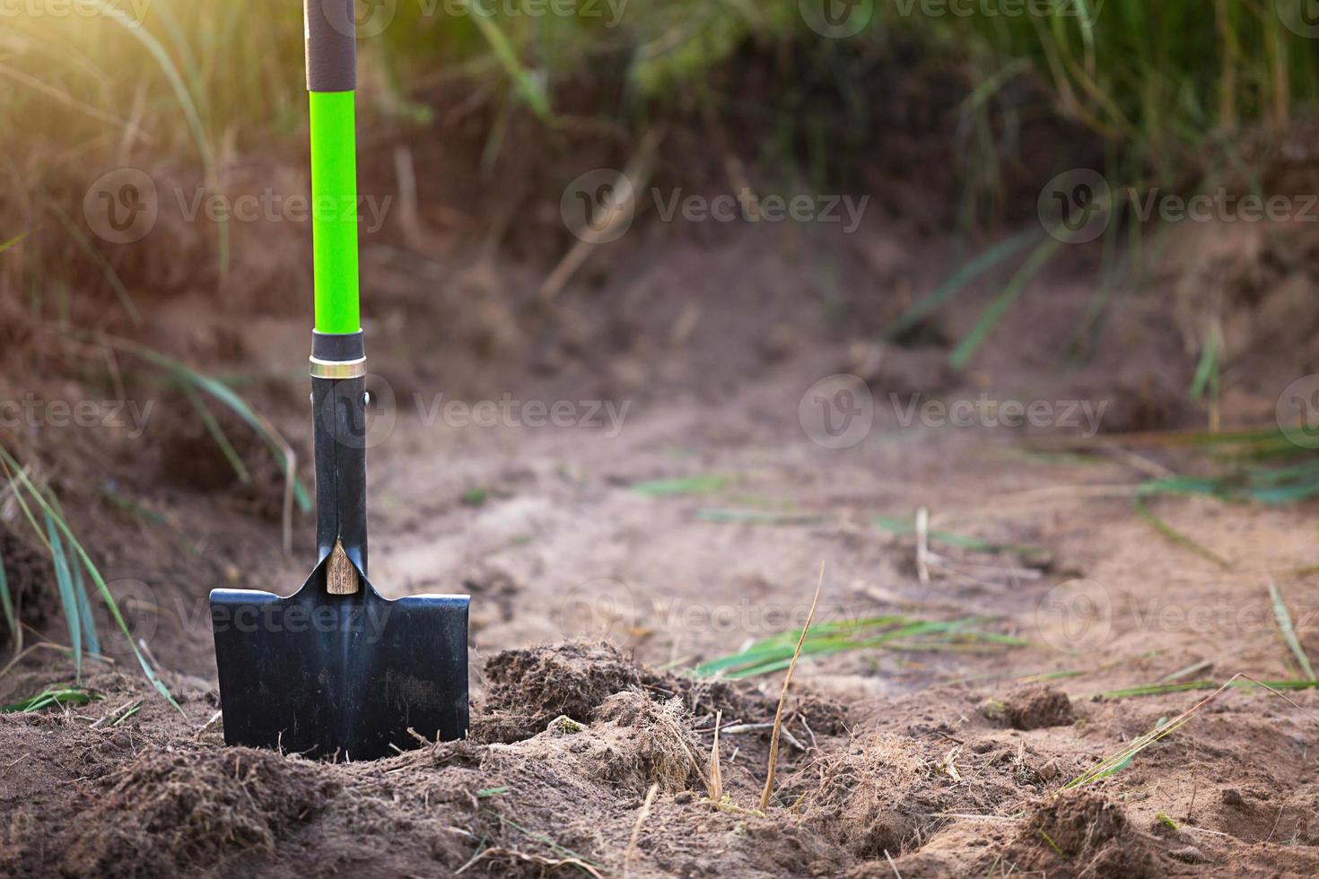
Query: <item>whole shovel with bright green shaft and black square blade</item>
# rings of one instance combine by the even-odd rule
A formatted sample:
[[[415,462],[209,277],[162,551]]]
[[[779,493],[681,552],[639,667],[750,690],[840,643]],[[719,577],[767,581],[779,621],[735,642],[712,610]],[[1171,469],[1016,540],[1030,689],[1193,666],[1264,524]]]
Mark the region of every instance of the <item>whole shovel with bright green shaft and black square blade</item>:
[[[211,593],[224,741],[376,759],[467,734],[467,596],[367,579],[367,357],[357,307],[353,0],[306,0],[318,563],[289,598]]]

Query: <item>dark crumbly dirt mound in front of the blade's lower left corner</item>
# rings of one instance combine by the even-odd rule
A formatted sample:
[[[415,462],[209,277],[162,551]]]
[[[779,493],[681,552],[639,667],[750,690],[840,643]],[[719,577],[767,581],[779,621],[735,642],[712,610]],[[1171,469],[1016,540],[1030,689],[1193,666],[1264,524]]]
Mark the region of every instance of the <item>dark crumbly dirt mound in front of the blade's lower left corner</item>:
[[[272,751],[148,751],[111,775],[70,846],[70,875],[178,875],[270,851],[339,789],[319,767]]]

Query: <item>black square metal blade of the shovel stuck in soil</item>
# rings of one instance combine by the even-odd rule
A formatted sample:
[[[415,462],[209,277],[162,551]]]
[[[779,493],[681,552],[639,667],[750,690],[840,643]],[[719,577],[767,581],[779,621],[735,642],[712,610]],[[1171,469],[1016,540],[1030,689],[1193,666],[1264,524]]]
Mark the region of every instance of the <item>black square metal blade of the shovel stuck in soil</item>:
[[[386,601],[364,577],[331,596],[318,575],[289,598],[211,593],[224,741],[369,760],[466,737],[468,597]]]

